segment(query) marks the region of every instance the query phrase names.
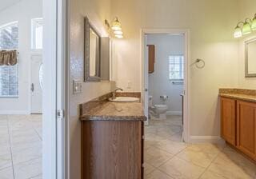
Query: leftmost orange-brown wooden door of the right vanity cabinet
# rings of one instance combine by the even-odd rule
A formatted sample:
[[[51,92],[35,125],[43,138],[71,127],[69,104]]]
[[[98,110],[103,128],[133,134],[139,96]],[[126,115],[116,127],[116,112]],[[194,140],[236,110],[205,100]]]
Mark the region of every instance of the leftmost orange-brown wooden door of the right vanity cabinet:
[[[221,97],[221,134],[231,145],[236,145],[235,103],[234,99]]]

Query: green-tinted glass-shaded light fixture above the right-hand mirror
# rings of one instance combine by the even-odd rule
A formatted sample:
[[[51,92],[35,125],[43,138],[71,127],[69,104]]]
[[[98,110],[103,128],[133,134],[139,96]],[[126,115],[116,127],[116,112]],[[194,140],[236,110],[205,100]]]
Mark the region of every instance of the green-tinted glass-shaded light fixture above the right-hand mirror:
[[[241,24],[242,26],[240,26]],[[256,30],[256,14],[254,14],[253,20],[246,18],[245,22],[238,22],[234,28],[234,38],[241,38],[242,35],[250,34],[252,30]]]

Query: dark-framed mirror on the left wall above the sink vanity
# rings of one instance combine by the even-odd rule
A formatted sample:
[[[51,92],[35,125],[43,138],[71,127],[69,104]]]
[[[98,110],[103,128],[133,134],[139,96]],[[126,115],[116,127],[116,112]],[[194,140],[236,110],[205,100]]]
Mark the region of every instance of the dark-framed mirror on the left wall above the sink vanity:
[[[89,19],[85,18],[85,82],[101,81],[101,38],[91,25]]]

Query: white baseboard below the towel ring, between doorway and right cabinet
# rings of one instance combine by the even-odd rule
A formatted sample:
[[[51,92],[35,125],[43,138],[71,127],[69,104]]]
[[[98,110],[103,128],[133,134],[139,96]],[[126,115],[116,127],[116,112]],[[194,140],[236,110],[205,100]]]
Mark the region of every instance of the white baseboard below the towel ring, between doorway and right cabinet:
[[[218,143],[222,144],[225,141],[219,136],[190,136],[190,143]]]

